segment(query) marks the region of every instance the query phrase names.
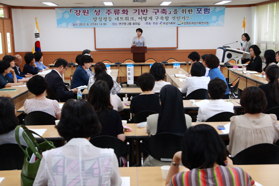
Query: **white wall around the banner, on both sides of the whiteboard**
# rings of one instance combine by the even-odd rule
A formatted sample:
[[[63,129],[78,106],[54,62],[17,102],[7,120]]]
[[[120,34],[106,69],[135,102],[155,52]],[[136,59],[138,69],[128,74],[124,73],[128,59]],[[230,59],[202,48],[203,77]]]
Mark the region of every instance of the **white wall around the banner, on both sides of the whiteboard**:
[[[178,49],[215,49],[226,43],[237,40],[240,42],[244,15],[246,32],[253,38],[254,44],[252,22],[255,10],[253,11],[253,7],[236,7],[226,8],[224,26],[179,27]],[[35,17],[39,25],[42,51],[82,51],[85,48],[94,50],[93,28],[57,28],[55,9],[15,8],[12,9],[15,52],[32,50]],[[230,46],[240,48],[239,42]]]

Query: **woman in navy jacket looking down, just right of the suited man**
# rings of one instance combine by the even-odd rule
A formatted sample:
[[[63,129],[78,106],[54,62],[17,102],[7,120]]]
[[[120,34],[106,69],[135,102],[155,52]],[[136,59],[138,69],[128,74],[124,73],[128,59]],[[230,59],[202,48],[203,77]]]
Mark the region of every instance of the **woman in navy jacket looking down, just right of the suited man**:
[[[80,63],[73,75],[73,81],[71,84],[71,89],[88,85],[89,77],[85,71],[85,69],[89,69],[91,63],[93,62],[93,58],[88,55],[83,55],[80,58]]]

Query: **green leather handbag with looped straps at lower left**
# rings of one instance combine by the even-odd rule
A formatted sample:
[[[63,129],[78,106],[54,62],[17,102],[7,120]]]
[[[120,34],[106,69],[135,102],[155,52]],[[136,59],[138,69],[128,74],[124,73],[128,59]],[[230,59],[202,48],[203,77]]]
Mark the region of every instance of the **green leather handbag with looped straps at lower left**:
[[[20,144],[19,140],[19,128],[23,129],[22,137],[27,144],[27,148],[24,150]],[[44,142],[38,144],[37,140],[32,134],[39,136]],[[37,171],[42,160],[42,152],[45,150],[55,149],[53,142],[49,142],[37,133],[27,129],[24,125],[18,125],[15,129],[15,139],[23,153],[25,154],[23,167],[20,174],[20,183],[21,186],[32,186],[37,175]],[[32,154],[37,157],[37,160],[34,163],[29,163]]]

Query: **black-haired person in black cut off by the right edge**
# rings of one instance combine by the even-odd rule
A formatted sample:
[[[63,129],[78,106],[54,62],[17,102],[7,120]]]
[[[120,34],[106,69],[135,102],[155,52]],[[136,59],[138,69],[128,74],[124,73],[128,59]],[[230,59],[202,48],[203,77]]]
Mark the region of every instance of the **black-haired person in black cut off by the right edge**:
[[[279,104],[279,66],[271,65],[267,67],[266,75],[269,77],[271,81],[271,85],[269,86],[270,96],[271,98]]]

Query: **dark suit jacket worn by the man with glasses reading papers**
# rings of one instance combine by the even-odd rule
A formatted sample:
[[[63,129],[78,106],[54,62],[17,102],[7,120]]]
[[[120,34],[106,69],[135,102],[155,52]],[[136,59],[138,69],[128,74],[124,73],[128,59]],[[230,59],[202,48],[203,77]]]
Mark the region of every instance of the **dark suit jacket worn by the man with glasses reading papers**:
[[[63,82],[63,79],[55,70],[51,70],[51,72],[46,74],[45,80],[48,84],[46,93],[49,99],[55,99],[58,102],[65,102],[74,97],[73,91],[68,90]]]

